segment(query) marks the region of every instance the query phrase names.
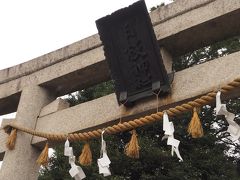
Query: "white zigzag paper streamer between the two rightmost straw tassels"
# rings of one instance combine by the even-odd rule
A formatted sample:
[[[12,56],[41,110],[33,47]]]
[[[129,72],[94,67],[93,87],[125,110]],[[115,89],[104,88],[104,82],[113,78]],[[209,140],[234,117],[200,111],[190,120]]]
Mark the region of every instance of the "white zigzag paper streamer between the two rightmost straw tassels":
[[[163,113],[163,131],[164,136],[162,140],[167,139],[167,145],[172,146],[172,156],[174,155],[174,152],[176,153],[177,157],[179,158],[179,161],[183,161],[180,152],[179,152],[179,144],[180,141],[174,138],[174,125],[172,122],[169,121],[168,115],[166,112]]]

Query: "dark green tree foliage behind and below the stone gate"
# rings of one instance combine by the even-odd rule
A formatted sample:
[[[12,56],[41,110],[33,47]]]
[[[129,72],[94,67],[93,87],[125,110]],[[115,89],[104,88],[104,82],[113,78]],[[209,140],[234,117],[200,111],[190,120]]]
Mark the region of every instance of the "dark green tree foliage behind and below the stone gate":
[[[201,48],[194,52],[174,59],[173,67],[176,71],[183,70],[217,57],[240,50],[240,38],[234,37],[214,45]],[[213,67],[214,68],[214,67]],[[113,82],[104,82],[79,91],[69,96],[71,105],[83,103],[110,94],[114,91]],[[240,99],[226,102],[229,111],[236,114],[236,122],[240,122]],[[130,133],[123,132],[106,136],[108,155],[112,161],[110,169],[112,176],[104,178],[98,174],[96,164],[99,158],[100,139],[91,140],[93,164],[83,167],[87,179],[112,180],[237,180],[240,179],[240,145],[229,139],[226,133],[227,122],[223,117],[216,117],[214,107],[205,106],[201,110],[201,120],[204,137],[193,139],[187,134],[187,125],[191,114],[186,113],[171,119],[175,126],[175,137],[181,141],[180,152],[184,159],[178,162],[176,156],[170,154],[170,147],[162,141],[162,123],[156,122],[137,129],[141,147],[140,158],[131,159],[124,154],[124,147],[130,140]],[[79,156],[83,143],[72,143],[74,154]],[[68,180],[67,157],[63,155],[63,145],[55,148],[50,158],[48,168],[40,171],[39,180]]]

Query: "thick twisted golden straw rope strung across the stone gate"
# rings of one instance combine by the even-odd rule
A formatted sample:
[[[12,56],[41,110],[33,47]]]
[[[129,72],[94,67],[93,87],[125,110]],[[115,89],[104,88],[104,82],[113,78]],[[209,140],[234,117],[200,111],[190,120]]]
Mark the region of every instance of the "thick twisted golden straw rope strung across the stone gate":
[[[240,78],[235,79],[234,81],[230,82],[226,86],[223,86],[220,91],[222,93],[228,93],[231,92],[233,89],[240,87]],[[166,110],[167,114],[169,116],[176,116],[179,114],[182,114],[184,112],[192,111],[194,107],[202,107],[204,105],[210,104],[213,101],[215,101],[217,91],[210,92],[204,96],[201,96],[193,101],[189,101],[187,103],[184,103],[180,106],[176,106],[174,108],[169,108]],[[115,134],[123,131],[128,131],[137,127],[144,126],[149,123],[153,123],[155,121],[161,120],[163,118],[163,112],[157,112],[145,117],[141,117],[138,119],[134,119],[128,122],[119,123],[113,126],[108,126],[105,128],[105,133],[107,134]],[[25,133],[39,136],[48,139],[49,141],[65,141],[67,138],[70,141],[81,141],[81,140],[89,140],[92,138],[98,138],[101,136],[102,129],[97,129],[93,131],[83,132],[83,133],[70,133],[70,134],[54,134],[54,133],[44,133],[35,131],[33,129],[24,128],[22,126],[16,125],[16,124],[8,124],[4,127],[6,128],[15,128],[19,131],[23,131]]]

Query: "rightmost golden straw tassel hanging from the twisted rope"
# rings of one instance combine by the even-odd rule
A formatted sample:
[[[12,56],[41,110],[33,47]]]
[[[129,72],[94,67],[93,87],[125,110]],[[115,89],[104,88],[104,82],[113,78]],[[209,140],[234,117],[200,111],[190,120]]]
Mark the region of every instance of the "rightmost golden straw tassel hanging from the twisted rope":
[[[203,136],[203,128],[196,107],[193,109],[193,117],[188,125],[188,133],[191,134],[193,138]]]

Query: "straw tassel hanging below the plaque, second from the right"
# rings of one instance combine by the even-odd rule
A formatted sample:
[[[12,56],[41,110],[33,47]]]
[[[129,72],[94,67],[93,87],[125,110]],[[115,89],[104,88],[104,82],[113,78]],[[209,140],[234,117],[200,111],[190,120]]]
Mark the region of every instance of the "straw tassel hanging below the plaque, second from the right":
[[[137,132],[135,129],[132,130],[132,137],[129,143],[125,146],[125,154],[131,158],[139,158],[139,145],[137,139]]]

